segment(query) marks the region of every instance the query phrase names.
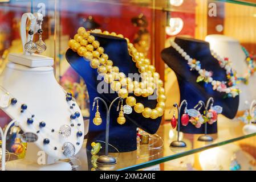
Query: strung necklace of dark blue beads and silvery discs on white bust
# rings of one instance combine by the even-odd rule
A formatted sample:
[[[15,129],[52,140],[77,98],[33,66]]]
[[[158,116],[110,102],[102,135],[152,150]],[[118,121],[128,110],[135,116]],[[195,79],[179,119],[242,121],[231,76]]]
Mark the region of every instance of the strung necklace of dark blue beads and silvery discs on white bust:
[[[24,118],[24,121],[23,121],[24,123],[22,123],[22,125],[29,125],[30,129],[32,129],[33,133],[27,133],[28,138],[36,136],[36,140],[37,140],[37,138],[42,140],[43,145],[48,145],[48,146],[50,146],[50,148],[52,148],[52,152],[54,152],[56,150],[61,150],[63,155],[66,156],[67,158],[70,158],[75,155],[75,147],[72,143],[65,142],[62,146],[60,143],[59,143],[60,146],[52,146],[50,139],[48,138],[50,133],[56,133],[56,132],[61,137],[68,138],[71,135],[71,130],[72,130],[71,128],[75,127],[74,130],[77,131],[76,137],[78,138],[76,145],[79,146],[80,144],[83,143],[82,142],[83,139],[81,138],[83,133],[79,129],[81,126],[81,123],[78,121],[78,118],[80,117],[80,113],[78,111],[75,111],[75,107],[76,107],[75,102],[71,103],[73,98],[72,98],[72,94],[70,92],[65,92],[66,93],[66,101],[68,103],[68,107],[69,107],[69,110],[71,113],[70,121],[68,122],[68,125],[65,124],[65,125],[60,126],[59,129],[54,129],[54,128],[48,127],[47,123],[44,122],[43,120],[36,118],[35,114],[32,114],[29,111],[28,106],[26,104],[20,103],[17,100],[17,98],[15,98],[5,88],[0,86],[0,90],[2,90],[4,92],[4,95],[1,95],[1,97],[5,97],[5,96],[7,97],[7,100],[5,99],[5,102],[6,102],[5,108],[7,108],[7,107],[15,107],[16,108],[17,107],[17,109],[20,110],[21,118]],[[5,108],[3,108],[3,109],[5,109]],[[19,125],[21,125],[20,123],[22,122],[22,119],[19,120],[18,122],[19,122]],[[77,125],[77,127],[75,126],[75,124]],[[80,140],[79,138],[81,138],[82,140]]]

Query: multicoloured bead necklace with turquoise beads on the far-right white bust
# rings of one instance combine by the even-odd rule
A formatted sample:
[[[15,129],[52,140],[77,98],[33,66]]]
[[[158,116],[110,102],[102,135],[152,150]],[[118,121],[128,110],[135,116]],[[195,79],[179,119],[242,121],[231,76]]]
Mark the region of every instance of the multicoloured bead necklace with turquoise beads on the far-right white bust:
[[[247,71],[244,76],[237,77],[237,83],[243,82],[244,84],[248,84],[249,77],[253,75],[256,68],[253,64],[253,61],[254,61],[253,55],[250,55],[250,53],[246,50],[245,47],[243,47],[243,46],[241,46],[241,47],[246,56],[245,61],[247,64]]]

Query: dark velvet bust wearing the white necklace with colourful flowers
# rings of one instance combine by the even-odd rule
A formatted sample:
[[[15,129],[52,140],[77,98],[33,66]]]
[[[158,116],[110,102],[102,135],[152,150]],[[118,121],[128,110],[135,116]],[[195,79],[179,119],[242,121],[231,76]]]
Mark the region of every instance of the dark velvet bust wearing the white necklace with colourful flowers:
[[[192,58],[201,62],[201,68],[213,72],[213,80],[227,81],[226,71],[220,67],[209,48],[209,43],[190,38],[176,38],[174,40]],[[190,71],[187,60],[184,59],[173,47],[166,48],[161,52],[162,60],[176,74],[180,87],[180,97],[188,101],[188,109],[193,108],[198,101],[206,103],[208,98],[214,98],[214,105],[223,107],[222,114],[227,118],[234,118],[238,110],[239,96],[235,98],[224,98],[225,93],[213,90],[212,84],[196,82],[199,76],[197,71]],[[167,93],[168,94],[168,93]],[[197,129],[189,122],[187,126],[181,126],[180,130],[184,133],[201,134],[204,133],[204,125]],[[208,133],[217,133],[217,122],[208,125]]]

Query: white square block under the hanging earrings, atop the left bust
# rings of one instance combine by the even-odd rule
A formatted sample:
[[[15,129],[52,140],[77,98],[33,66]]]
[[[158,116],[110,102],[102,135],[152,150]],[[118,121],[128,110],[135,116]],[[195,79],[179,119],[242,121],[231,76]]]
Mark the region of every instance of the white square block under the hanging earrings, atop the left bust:
[[[27,67],[51,67],[54,64],[52,57],[42,56],[38,54],[23,55],[23,53],[10,53],[9,61]]]

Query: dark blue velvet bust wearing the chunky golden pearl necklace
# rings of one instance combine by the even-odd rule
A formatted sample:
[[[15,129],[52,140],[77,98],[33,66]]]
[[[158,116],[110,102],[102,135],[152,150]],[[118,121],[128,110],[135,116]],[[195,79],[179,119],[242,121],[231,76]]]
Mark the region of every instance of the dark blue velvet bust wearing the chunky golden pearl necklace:
[[[113,66],[119,67],[119,72],[123,72],[127,77],[129,73],[138,73],[135,63],[132,61],[132,57],[128,53],[127,41],[115,36],[107,36],[102,34],[92,34],[95,36],[95,40],[100,42],[100,46],[105,49],[104,53],[107,53],[109,59],[113,61]],[[66,59],[70,63],[71,67],[75,69],[78,74],[83,77],[86,82],[88,94],[90,97],[90,125],[87,140],[87,149],[91,149],[91,143],[96,140],[105,140],[105,126],[106,126],[106,110],[104,104],[99,100],[99,111],[103,122],[99,126],[95,126],[92,120],[95,117],[96,105],[94,111],[92,111],[92,104],[95,97],[101,97],[109,106],[111,102],[118,97],[117,93],[99,93],[97,92],[97,85],[102,83],[103,77],[99,77],[97,69],[90,67],[90,61],[84,60],[78,53],[68,49],[66,52]],[[98,78],[97,78],[98,77]],[[110,86],[108,84],[108,90]],[[145,107],[155,108],[157,101],[148,100],[144,97],[136,97],[134,94],[129,93],[129,96],[136,98],[137,102],[140,102]],[[137,149],[137,127],[147,131],[150,134],[156,133],[159,129],[161,117],[157,119],[144,118],[140,113],[136,113],[134,110],[131,114],[124,114],[126,122],[124,125],[117,123],[117,117],[119,111],[117,111],[118,100],[113,104],[110,114],[110,126],[109,126],[109,144],[115,146],[120,152],[128,152]],[[124,100],[125,105],[125,100]],[[116,152],[111,151],[110,152]]]

